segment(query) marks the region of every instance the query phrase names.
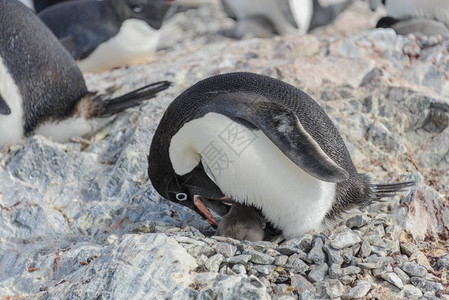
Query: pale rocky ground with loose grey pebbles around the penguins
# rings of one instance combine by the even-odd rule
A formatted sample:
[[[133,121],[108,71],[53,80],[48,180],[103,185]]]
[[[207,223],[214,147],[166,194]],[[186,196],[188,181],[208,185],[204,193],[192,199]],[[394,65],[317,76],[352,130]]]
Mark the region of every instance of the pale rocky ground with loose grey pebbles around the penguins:
[[[0,298],[449,299],[449,39],[368,30],[375,20],[357,2],[312,35],[235,41],[213,2],[176,15],[148,62],[86,75],[92,90],[173,87],[91,139],[0,154]],[[146,156],[167,105],[231,71],[303,89],[360,172],[416,188],[281,244],[211,236],[154,191]]]

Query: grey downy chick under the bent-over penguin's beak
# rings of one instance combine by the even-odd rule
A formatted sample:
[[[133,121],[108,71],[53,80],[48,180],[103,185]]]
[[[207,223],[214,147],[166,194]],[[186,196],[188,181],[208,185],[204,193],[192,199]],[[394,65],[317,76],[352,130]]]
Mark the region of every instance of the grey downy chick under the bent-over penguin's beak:
[[[216,235],[257,242],[263,240],[265,226],[264,217],[257,209],[236,203],[221,218]]]

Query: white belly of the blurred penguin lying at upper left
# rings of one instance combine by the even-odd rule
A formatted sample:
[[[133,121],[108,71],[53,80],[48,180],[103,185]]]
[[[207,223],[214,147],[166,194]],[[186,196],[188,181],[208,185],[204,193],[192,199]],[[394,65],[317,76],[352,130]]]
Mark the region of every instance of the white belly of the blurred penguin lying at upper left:
[[[160,31],[142,20],[123,22],[119,33],[99,45],[87,58],[78,61],[83,72],[101,72],[137,63],[157,47]]]

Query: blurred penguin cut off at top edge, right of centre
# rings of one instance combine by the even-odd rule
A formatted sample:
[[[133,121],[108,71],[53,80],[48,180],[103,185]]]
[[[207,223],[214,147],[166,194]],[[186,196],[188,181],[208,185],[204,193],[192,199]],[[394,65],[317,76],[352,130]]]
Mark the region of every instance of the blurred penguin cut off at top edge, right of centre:
[[[306,34],[327,25],[353,0],[222,0],[229,17],[236,20],[234,37],[266,38]]]

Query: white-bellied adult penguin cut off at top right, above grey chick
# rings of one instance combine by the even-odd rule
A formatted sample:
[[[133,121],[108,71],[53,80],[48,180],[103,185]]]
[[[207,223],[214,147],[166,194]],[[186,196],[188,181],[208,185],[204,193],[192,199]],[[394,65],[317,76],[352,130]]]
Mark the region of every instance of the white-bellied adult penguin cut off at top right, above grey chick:
[[[370,0],[370,7],[375,10],[381,3],[385,4],[388,17],[397,20],[426,18],[449,27],[449,5],[446,0]]]

